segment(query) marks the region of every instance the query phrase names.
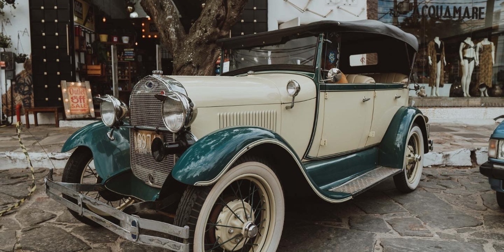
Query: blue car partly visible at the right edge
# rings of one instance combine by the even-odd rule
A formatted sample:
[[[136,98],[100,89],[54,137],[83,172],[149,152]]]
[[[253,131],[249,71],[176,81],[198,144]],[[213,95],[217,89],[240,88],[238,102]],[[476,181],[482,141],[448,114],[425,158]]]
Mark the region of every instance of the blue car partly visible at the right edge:
[[[490,136],[488,161],[480,165],[479,171],[488,177],[488,182],[492,190],[495,191],[497,204],[504,209],[504,188],[502,187],[502,181],[504,181],[504,121],[500,122]]]

